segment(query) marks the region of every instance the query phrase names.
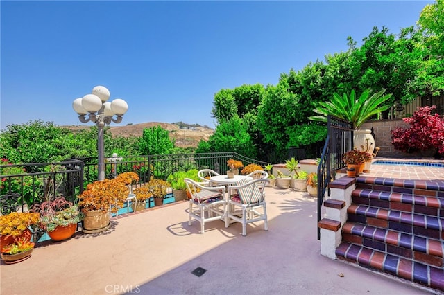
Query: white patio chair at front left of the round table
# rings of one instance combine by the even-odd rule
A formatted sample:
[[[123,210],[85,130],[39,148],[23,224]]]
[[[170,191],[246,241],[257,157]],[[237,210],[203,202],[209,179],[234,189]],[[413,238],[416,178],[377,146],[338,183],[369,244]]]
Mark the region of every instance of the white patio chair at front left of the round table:
[[[187,190],[191,194],[189,199],[188,225],[194,218],[200,222],[200,233],[205,233],[205,223],[214,220],[223,220],[228,227],[228,217],[225,215],[227,203],[225,201],[225,186],[205,186],[205,182],[198,183],[185,178]]]

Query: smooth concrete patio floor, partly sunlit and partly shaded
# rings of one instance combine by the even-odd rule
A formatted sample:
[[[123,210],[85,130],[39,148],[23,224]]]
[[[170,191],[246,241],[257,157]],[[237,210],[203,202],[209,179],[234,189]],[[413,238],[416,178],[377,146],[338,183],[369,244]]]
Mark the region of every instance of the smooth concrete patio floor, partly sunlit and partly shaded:
[[[404,168],[405,170],[405,168]],[[444,168],[434,168],[443,179]],[[375,176],[379,168],[367,175]],[[266,188],[269,230],[223,222],[188,226],[188,202],[113,218],[108,231],[78,233],[0,266],[1,294],[429,294],[320,254],[317,199]],[[198,277],[197,267],[206,269]]]

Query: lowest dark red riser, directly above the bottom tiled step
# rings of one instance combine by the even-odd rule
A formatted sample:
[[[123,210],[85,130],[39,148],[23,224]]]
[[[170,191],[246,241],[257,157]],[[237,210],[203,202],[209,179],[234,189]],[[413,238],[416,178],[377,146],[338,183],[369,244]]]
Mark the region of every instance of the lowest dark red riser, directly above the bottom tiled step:
[[[342,240],[344,242],[350,242],[352,244],[362,245],[364,247],[375,249],[384,253],[391,253],[396,256],[402,256],[409,260],[416,260],[427,265],[433,265],[435,267],[444,267],[444,258],[422,253],[420,251],[413,251],[404,247],[398,247],[384,242],[375,241],[369,238],[363,238],[359,235],[350,235],[343,233]]]

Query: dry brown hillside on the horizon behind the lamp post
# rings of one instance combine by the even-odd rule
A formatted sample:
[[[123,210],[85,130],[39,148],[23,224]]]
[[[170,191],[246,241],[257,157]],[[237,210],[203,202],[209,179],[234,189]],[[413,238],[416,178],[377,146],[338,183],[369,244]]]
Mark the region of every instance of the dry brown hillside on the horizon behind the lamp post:
[[[160,125],[163,129],[169,131],[169,137],[176,140],[176,146],[178,147],[197,147],[200,139],[205,141],[210,138],[214,133],[214,129],[209,129],[205,127],[193,127],[194,129],[180,129],[178,125],[171,123],[159,123],[159,122],[148,122],[140,123],[134,125],[125,126],[111,126],[110,131],[112,136],[142,136],[145,128],[151,128]],[[81,129],[89,129],[90,125],[78,125],[78,126],[62,126],[67,129],[76,132]]]

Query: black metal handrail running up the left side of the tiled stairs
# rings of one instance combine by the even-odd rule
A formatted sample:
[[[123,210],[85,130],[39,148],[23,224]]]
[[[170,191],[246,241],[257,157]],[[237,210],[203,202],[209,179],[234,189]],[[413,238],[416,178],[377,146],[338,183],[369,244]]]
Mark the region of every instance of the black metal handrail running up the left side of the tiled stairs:
[[[327,128],[327,139],[318,166],[318,222],[321,221],[321,208],[325,193],[330,196],[328,184],[334,179],[336,170],[345,167],[342,154],[353,148],[352,123],[329,115]],[[321,229],[318,227],[318,240],[320,238]]]

